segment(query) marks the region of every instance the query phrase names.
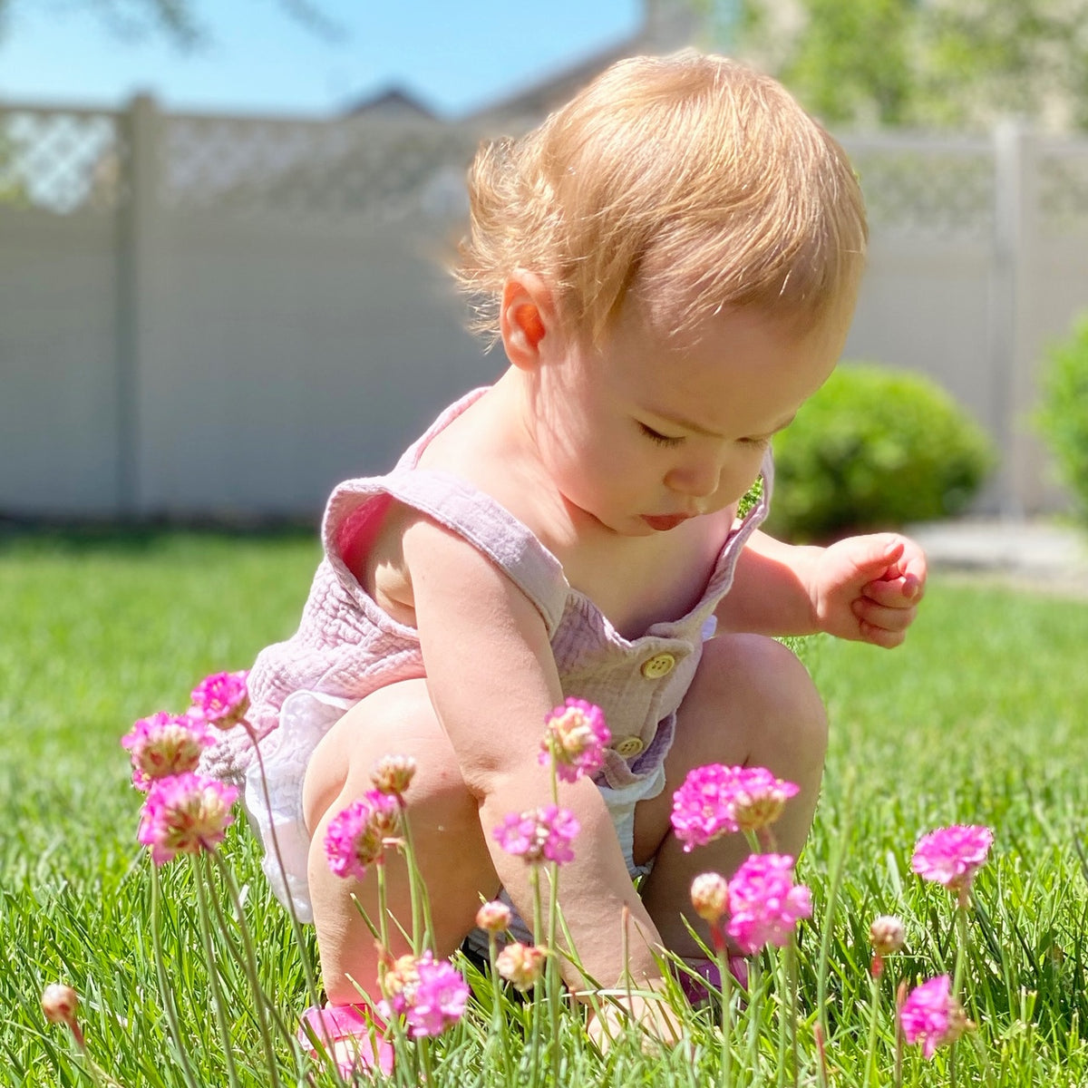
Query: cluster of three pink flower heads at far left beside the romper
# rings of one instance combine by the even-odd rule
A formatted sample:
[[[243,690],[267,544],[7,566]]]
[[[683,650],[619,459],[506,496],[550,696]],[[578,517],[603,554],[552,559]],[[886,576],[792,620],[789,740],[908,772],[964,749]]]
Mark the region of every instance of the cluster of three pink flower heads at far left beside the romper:
[[[207,677],[193,690],[194,705],[185,714],[140,718],[121,739],[132,759],[133,786],[147,793],[137,839],[150,846],[156,865],[213,849],[234,823],[237,789],[196,770],[200,753],[215,743],[209,726],[227,728],[244,719],[247,676]]]

